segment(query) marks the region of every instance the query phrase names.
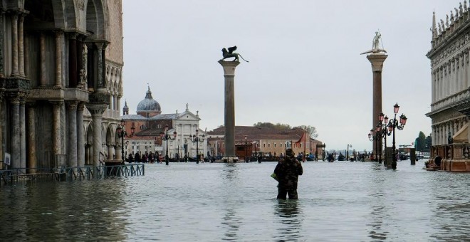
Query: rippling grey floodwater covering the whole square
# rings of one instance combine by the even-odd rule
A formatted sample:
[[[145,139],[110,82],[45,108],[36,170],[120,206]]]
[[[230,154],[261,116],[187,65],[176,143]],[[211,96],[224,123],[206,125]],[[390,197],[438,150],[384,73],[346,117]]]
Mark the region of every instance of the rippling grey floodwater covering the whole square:
[[[465,241],[470,174],[305,162],[278,201],[275,162],[146,164],[143,177],[0,187],[0,241]]]

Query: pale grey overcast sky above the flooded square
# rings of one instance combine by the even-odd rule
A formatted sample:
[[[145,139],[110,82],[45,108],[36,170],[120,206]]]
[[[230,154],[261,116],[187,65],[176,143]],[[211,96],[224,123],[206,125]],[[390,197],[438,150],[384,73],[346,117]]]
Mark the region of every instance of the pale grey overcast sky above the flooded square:
[[[224,125],[221,48],[246,60],[235,73],[236,125],[312,125],[326,149],[370,150],[375,31],[387,51],[382,110],[408,117],[399,144],[431,133],[432,12],[456,0],[123,0],[124,96],[130,114],[147,83],[162,113],[199,110],[202,130]],[[449,14],[450,15],[450,14]],[[249,135],[249,134],[247,134]],[[387,140],[391,146],[391,139]]]

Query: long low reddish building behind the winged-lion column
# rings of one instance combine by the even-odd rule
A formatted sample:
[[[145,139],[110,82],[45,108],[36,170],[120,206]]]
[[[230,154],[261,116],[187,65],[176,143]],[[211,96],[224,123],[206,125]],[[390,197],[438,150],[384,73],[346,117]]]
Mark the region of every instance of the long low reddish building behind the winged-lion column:
[[[207,149],[211,156],[224,156],[224,135],[223,126],[207,132]],[[311,139],[310,133],[300,128],[276,130],[268,127],[235,127],[235,147],[240,159],[260,152],[264,155],[282,157],[288,148],[292,148],[296,154],[315,154],[317,144],[322,142]]]

